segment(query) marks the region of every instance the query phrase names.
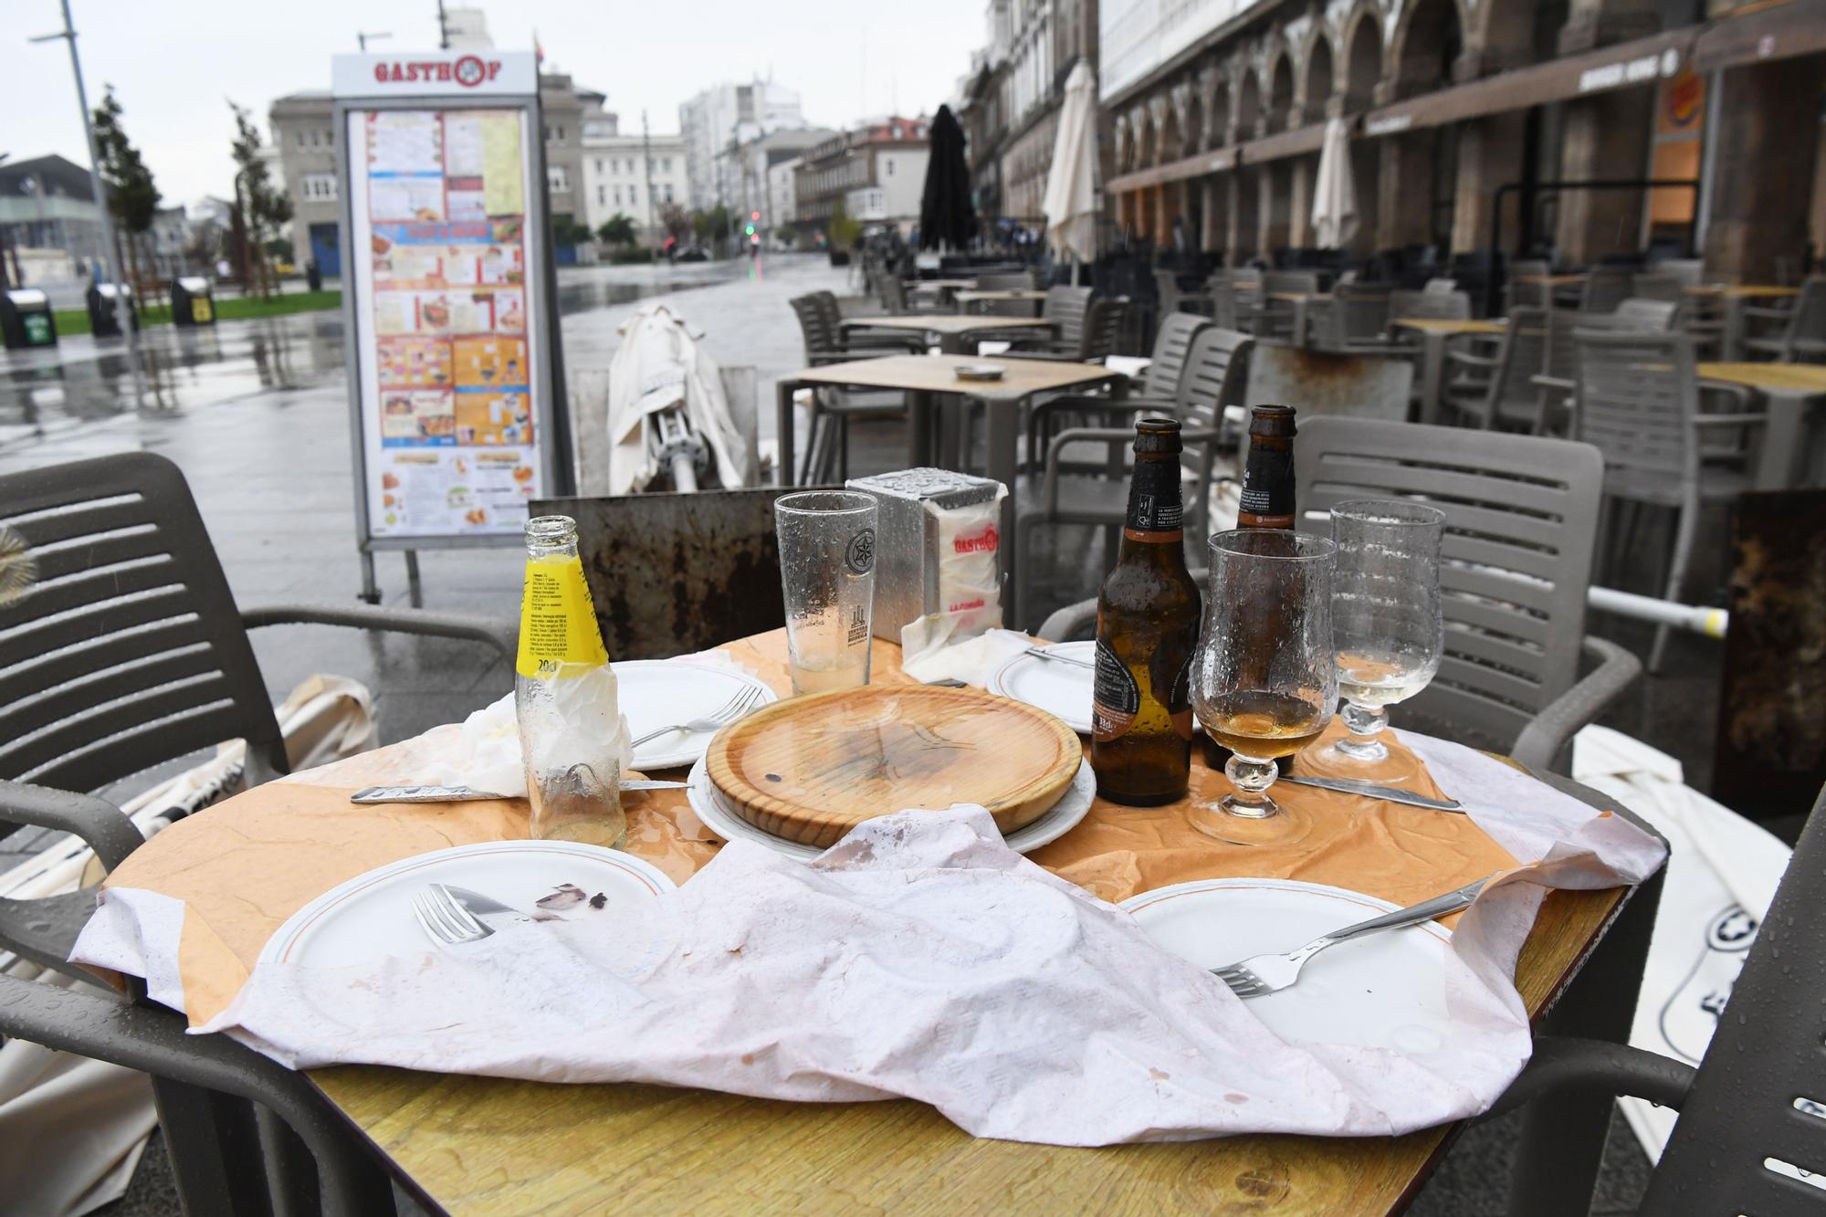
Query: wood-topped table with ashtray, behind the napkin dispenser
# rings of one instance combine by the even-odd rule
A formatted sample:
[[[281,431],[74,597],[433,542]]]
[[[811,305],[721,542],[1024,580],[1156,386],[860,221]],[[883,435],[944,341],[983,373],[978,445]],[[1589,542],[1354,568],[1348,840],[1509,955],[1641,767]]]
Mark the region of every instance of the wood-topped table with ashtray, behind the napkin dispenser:
[[[895,320],[895,318],[889,318]],[[913,320],[913,318],[904,318]],[[997,318],[920,318],[920,320],[951,320],[951,322],[995,322]],[[1006,318],[1002,318],[1006,322]],[[1023,323],[1024,322],[1017,322]],[[959,380],[959,365],[968,364],[999,364],[1008,371],[1001,380]],[[889,355],[878,360],[851,360],[847,364],[825,364],[822,367],[805,367],[802,371],[791,373],[780,380],[774,387],[774,418],[776,435],[780,437],[780,453],[774,462],[774,475],[778,484],[792,484],[792,393],[807,386],[831,386],[838,389],[900,389],[908,395],[908,466],[922,466],[933,462],[933,398],[968,398],[981,402],[988,418],[988,457],[984,475],[999,481],[1008,488],[1008,497],[1002,501],[1002,539],[1001,539],[1001,559],[1002,572],[1012,574],[1015,568],[1015,506],[1017,506],[1017,455],[1015,455],[1015,437],[1021,424],[1021,404],[1032,398],[1035,393],[1057,393],[1063,389],[1096,389],[1101,386],[1112,386],[1116,393],[1123,391],[1127,378],[1110,367],[1101,364],[1072,364],[1065,360],[1021,360],[1021,358],[959,358],[955,355]],[[957,448],[959,431],[957,417],[951,413],[946,418],[946,431],[942,448],[953,451]],[[957,468],[960,460],[955,457],[946,462],[946,468]],[[1008,592],[1002,596],[1006,605],[1006,618],[1010,621],[1019,621],[1017,605],[1013,601],[1013,579],[1008,581]]]

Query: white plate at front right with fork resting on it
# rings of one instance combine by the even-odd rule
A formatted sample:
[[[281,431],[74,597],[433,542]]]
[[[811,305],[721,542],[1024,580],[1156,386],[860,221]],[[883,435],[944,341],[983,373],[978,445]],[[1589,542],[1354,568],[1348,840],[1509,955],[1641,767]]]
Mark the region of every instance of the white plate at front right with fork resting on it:
[[[1293,950],[1395,910],[1362,892],[1293,879],[1196,879],[1121,906],[1158,945],[1203,968]],[[1415,1056],[1437,1051],[1452,1027],[1450,943],[1452,932],[1437,921],[1338,943],[1307,961],[1291,989],[1251,998],[1249,1012],[1282,1040]]]

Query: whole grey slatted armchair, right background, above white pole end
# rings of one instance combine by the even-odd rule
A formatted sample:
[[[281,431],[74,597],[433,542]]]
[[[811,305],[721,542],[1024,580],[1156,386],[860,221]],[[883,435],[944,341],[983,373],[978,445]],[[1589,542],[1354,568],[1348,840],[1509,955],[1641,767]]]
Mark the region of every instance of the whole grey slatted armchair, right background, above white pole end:
[[[1740,386],[1704,386],[1726,395],[1738,409],[1707,413],[1700,409],[1700,378],[1693,340],[1662,333],[1574,331],[1578,347],[1578,387],[1572,409],[1576,439],[1603,453],[1603,493],[1607,506],[1632,506],[1631,528],[1642,506],[1674,512],[1673,554],[1667,561],[1665,596],[1680,599],[1687,561],[1698,535],[1700,510],[1707,503],[1727,503],[1749,488],[1742,468],[1705,460],[1705,435],[1718,429],[1760,426],[1766,415],[1744,409],[1749,389]],[[1609,512],[1614,517],[1614,512]],[[1623,530],[1614,526],[1621,539]],[[1667,651],[1671,627],[1654,632],[1649,671],[1658,672]]]

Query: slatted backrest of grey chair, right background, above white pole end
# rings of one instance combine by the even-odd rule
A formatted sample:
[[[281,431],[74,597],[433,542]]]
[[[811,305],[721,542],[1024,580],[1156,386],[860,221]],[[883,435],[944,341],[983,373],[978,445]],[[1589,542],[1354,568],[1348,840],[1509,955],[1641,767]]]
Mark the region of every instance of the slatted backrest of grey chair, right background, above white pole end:
[[[1574,437],[1611,475],[1698,481],[1698,369],[1685,334],[1576,329]]]

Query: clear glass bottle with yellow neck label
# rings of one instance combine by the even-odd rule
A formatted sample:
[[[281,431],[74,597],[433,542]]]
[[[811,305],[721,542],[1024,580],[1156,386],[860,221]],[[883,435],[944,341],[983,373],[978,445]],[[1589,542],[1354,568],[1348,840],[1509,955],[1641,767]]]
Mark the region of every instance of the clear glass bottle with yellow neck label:
[[[513,709],[533,837],[621,846],[628,733],[577,556],[577,521],[568,515],[526,521]]]

